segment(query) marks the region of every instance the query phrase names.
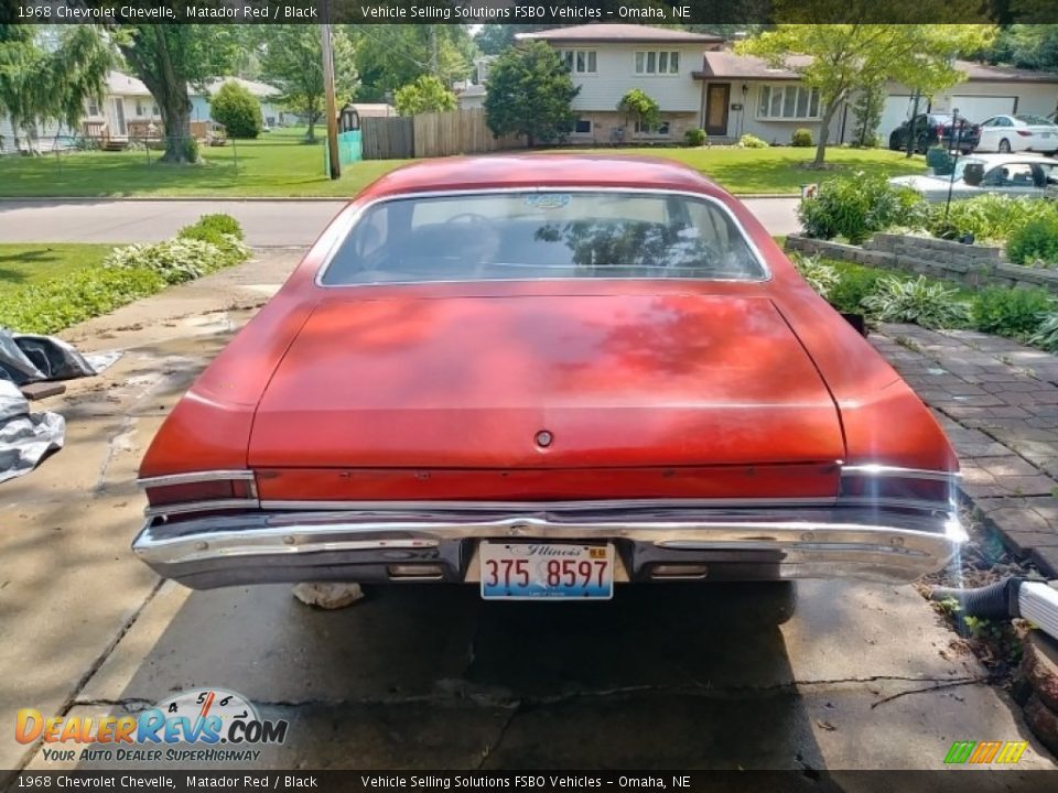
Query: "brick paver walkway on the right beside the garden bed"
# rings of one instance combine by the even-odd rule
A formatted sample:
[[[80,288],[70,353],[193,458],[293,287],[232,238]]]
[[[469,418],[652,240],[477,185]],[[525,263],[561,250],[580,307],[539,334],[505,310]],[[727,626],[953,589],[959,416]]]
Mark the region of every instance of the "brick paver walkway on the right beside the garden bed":
[[[1058,356],[917,325],[883,325],[871,341],[937,413],[963,495],[1014,553],[1058,577]]]

